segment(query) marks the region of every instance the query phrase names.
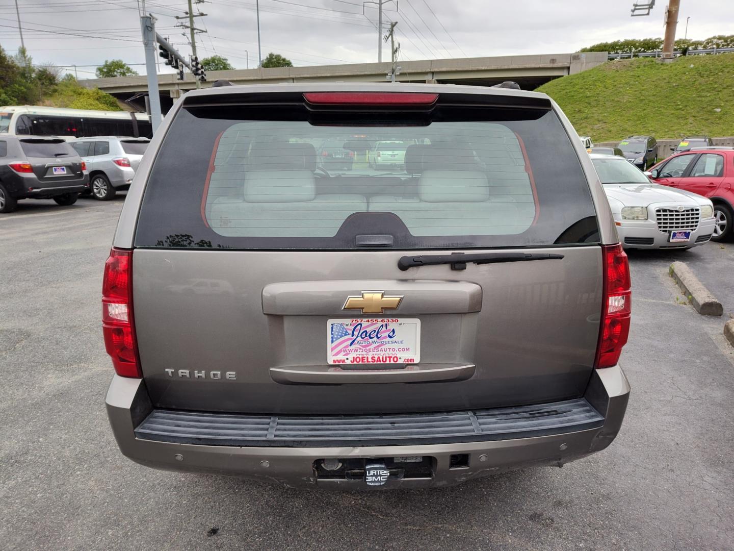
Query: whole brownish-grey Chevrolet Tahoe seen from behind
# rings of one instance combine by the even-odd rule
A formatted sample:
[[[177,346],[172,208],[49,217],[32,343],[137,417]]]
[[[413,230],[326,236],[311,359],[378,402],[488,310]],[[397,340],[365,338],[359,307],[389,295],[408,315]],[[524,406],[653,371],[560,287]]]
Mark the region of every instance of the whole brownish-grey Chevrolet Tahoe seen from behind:
[[[353,160],[327,168],[335,141]],[[385,141],[403,166],[370,167]],[[112,431],[159,469],[446,486],[603,450],[630,392],[627,257],[540,93],[187,93],[134,177],[102,300]]]

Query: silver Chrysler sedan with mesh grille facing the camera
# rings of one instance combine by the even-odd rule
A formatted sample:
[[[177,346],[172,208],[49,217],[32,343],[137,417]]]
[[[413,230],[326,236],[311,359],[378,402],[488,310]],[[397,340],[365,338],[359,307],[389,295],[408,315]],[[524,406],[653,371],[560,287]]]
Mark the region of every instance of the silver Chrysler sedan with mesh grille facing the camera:
[[[691,248],[711,240],[707,198],[653,184],[639,168],[611,155],[591,155],[625,248]]]

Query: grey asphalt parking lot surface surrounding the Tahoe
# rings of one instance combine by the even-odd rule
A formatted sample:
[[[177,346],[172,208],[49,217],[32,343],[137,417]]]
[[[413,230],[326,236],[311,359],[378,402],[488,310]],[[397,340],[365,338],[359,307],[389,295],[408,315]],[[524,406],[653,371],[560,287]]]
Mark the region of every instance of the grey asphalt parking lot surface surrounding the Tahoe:
[[[181,475],[117,450],[103,399],[103,262],[124,196],[0,217],[0,548],[734,549],[734,244],[633,252],[632,385],[607,450],[430,491],[328,493]],[[703,317],[684,260],[724,304]]]

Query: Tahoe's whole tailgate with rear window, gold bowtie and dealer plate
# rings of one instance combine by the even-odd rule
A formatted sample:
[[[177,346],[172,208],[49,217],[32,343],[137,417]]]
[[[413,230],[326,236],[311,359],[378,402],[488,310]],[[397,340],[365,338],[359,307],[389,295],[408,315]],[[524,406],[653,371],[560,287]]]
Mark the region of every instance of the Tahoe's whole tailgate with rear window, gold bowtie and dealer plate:
[[[176,112],[135,235],[156,407],[447,411],[583,394],[602,248],[577,138],[547,99],[207,97]],[[410,144],[410,166],[329,173],[327,142]],[[505,258],[461,260],[482,254]]]

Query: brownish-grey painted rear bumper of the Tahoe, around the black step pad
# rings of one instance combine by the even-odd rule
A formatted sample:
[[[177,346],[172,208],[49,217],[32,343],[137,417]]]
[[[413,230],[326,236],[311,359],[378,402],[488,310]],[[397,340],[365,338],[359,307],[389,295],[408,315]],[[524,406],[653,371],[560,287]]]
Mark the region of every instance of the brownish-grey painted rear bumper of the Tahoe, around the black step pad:
[[[415,478],[388,479],[385,486],[417,488],[448,486],[520,467],[561,466],[611,444],[622,425],[630,386],[619,367],[597,370],[592,374],[584,398],[600,414],[593,428],[574,430],[566,427],[558,433],[528,436],[512,429],[495,439],[471,442],[388,445],[338,445],[307,447],[283,445],[210,445],[182,444],[139,438],[136,428],[153,408],[145,383],[139,379],[115,375],[106,397],[107,413],[120,450],[128,458],[148,467],[184,472],[208,472],[267,480],[286,486],[322,486],[341,489],[366,489],[363,480],[318,474],[316,464],[324,458],[340,461],[422,456],[431,458],[432,472]],[[578,400],[577,400],[578,401]],[[601,419],[603,417],[603,419]],[[579,425],[581,426],[581,425]],[[588,423],[584,425],[589,426]],[[455,466],[455,457],[465,456],[465,464]],[[452,456],[454,467],[452,468]]]

